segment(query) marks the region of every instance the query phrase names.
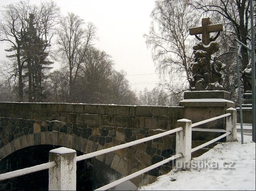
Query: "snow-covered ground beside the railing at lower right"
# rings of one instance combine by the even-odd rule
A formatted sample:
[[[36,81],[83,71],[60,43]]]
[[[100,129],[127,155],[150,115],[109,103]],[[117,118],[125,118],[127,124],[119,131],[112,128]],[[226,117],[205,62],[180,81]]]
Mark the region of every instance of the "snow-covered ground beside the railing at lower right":
[[[194,158],[190,170],[172,170],[138,190],[255,190],[255,143],[244,136],[241,144],[240,136]]]

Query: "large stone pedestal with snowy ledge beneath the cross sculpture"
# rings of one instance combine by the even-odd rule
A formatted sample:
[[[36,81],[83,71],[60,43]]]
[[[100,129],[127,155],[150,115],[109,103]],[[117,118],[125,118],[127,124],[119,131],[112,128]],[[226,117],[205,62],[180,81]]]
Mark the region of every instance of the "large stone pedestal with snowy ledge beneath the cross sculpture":
[[[227,91],[189,91],[184,92],[184,100],[180,101],[180,106],[184,107],[184,118],[191,120],[192,123],[196,123],[223,115],[226,109],[230,107],[234,108],[235,104],[230,101],[230,93]],[[196,126],[195,128],[225,129],[225,121],[226,119],[222,118]],[[192,148],[222,134],[220,132],[193,131]],[[209,145],[209,147],[213,146]],[[206,151],[207,149],[205,150],[205,148],[198,150],[196,154],[192,154],[192,157],[199,156]]]

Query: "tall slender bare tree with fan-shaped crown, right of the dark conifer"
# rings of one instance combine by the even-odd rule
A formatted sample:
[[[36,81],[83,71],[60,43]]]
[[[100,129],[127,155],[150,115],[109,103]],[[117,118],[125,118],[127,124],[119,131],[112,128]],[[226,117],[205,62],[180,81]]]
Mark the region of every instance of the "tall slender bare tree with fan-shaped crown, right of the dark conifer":
[[[61,21],[58,29],[59,53],[69,69],[69,99],[72,98],[73,86],[77,80],[81,63],[85,54],[96,38],[96,28],[92,23],[87,23],[74,13],[68,13]]]

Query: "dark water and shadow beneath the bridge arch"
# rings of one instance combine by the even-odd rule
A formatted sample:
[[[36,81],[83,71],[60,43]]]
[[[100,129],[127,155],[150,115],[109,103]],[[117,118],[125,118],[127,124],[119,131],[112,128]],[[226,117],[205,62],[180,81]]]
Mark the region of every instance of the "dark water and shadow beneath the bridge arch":
[[[49,161],[48,153],[59,146],[36,145],[18,150],[0,161],[0,173],[23,169]],[[77,156],[83,153],[77,151]],[[122,175],[95,158],[76,163],[76,190],[95,190]],[[136,190],[130,181],[110,190]],[[48,169],[0,181],[0,190],[48,190]]]

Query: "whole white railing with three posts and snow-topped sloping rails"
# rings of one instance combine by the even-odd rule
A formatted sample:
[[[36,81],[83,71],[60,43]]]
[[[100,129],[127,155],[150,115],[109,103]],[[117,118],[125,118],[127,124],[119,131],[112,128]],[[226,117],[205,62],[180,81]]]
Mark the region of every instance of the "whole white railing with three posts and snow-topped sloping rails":
[[[133,146],[136,144],[140,144],[146,141],[153,140],[155,138],[160,138],[166,135],[170,135],[172,133],[176,133],[176,154],[170,158],[167,158],[163,161],[160,161],[156,164],[153,164],[150,167],[147,167],[145,169],[142,169],[138,172],[135,172],[133,174],[130,174],[124,178],[121,178],[119,180],[114,181],[113,183],[110,183],[108,185],[105,185],[101,188],[98,188],[97,190],[107,190],[110,189],[120,183],[123,183],[124,181],[127,181],[129,179],[132,179],[134,177],[137,177],[145,172],[148,172],[154,168],[157,168],[167,162],[170,162],[174,159],[175,160],[175,166],[179,168],[189,168],[190,166],[190,159],[191,159],[191,153],[195,152],[202,147],[205,147],[219,139],[222,139],[224,137],[226,138],[226,141],[235,141],[237,138],[236,135],[236,109],[229,108],[226,110],[227,114],[217,116],[211,119],[207,119],[201,122],[197,123],[191,123],[190,120],[187,119],[181,119],[177,121],[177,128],[172,129],[167,132],[163,132],[157,135],[153,135],[150,137],[146,137],[143,139],[139,139],[136,141],[132,141],[129,143],[125,143],[122,145],[117,145],[108,149],[103,149],[100,151],[96,151],[93,153],[76,156],[75,150],[68,149],[65,147],[60,147],[58,149],[51,150],[49,152],[49,161],[48,163],[40,164],[34,167],[29,167],[26,169],[16,170],[13,172],[8,172],[4,174],[0,174],[0,180],[5,180],[9,178],[13,178],[16,176],[21,176],[24,174],[49,169],[49,190],[75,190],[76,189],[76,161],[96,157],[98,155],[106,154],[109,152],[113,152],[119,149],[124,149],[129,146]],[[226,129],[202,129],[202,128],[192,128],[198,125],[202,125],[217,119],[225,118],[226,117]],[[191,132],[192,131],[206,131],[206,132],[223,132],[225,134],[208,141],[202,145],[199,145],[193,149],[191,149]]]

